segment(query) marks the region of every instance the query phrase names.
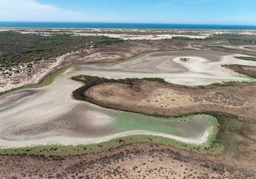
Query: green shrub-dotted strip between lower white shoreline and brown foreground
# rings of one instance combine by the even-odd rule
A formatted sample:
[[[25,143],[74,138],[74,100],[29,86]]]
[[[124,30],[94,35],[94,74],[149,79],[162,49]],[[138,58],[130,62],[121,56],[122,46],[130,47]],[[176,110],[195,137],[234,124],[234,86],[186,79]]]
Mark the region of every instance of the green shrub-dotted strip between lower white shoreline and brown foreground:
[[[214,138],[213,138],[214,139]],[[210,139],[212,140],[212,139]],[[164,144],[171,147],[176,147],[195,153],[202,154],[220,154],[223,152],[223,147],[219,146],[216,142],[210,141],[203,145],[194,145],[176,141],[174,139],[153,136],[153,135],[131,135],[126,137],[115,138],[106,142],[94,143],[88,145],[76,145],[76,146],[62,146],[62,145],[47,145],[47,146],[35,146],[25,148],[13,148],[13,149],[0,149],[2,154],[14,154],[14,155],[76,155],[76,154],[89,154],[104,152],[117,147],[133,144],[133,143],[152,143],[152,144]]]

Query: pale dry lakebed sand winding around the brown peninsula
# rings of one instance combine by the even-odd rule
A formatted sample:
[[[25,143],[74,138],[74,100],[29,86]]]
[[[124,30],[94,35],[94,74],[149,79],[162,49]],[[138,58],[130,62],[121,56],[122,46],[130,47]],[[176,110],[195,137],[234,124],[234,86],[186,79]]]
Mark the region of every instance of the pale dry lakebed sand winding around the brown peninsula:
[[[175,54],[176,53],[176,54]],[[202,129],[197,135],[191,138],[174,136],[171,134],[155,133],[150,131],[125,131],[113,132],[108,127],[102,127],[103,120],[100,121],[100,128],[95,129],[100,133],[104,130],[104,136],[88,137],[87,135],[75,134],[73,130],[67,130],[66,127],[82,121],[97,119],[97,116],[107,121],[115,120],[115,114],[119,111],[104,109],[99,106],[89,104],[84,101],[77,101],[71,97],[72,92],[82,84],[71,80],[71,77],[78,74],[98,75],[102,77],[114,78],[142,78],[142,77],[159,77],[165,78],[166,81],[177,81],[181,84],[205,84],[205,80],[214,82],[220,80],[248,80],[242,75],[237,75],[230,70],[220,67],[221,64],[244,64],[256,65],[256,62],[234,59],[236,54],[209,52],[204,57],[196,56],[193,51],[182,51],[175,53],[155,53],[144,57],[124,62],[116,65],[99,65],[73,68],[67,70],[63,75],[57,78],[53,84],[30,89],[31,94],[24,95],[19,99],[17,93],[6,98],[0,99],[0,145],[2,148],[31,146],[45,143],[59,144],[78,144],[91,143],[110,140],[118,136],[129,134],[146,134],[157,135],[184,141],[188,143],[200,144],[205,142],[210,134],[210,129]],[[205,51],[202,51],[202,54]],[[193,55],[189,55],[193,54]],[[207,55],[209,59],[207,59]],[[167,57],[166,57],[167,56]],[[172,56],[170,58],[170,56]],[[158,58],[157,58],[158,57]],[[181,62],[179,58],[189,57],[188,63]],[[164,64],[164,65],[163,65]],[[168,72],[168,67],[171,72]],[[235,75],[234,75],[235,74]],[[185,78],[185,80],[180,80]],[[201,80],[201,79],[204,80]],[[179,84],[178,83],[178,84]],[[207,84],[207,83],[206,83]],[[27,92],[26,90],[22,90]],[[20,92],[22,92],[20,91]],[[33,93],[32,93],[33,92]],[[16,95],[16,96],[15,96]],[[80,107],[80,108],[79,108]],[[79,108],[77,110],[77,108]],[[72,111],[77,110],[76,113]],[[94,111],[93,117],[88,111]],[[67,119],[66,119],[67,118]],[[76,120],[74,120],[76,119]],[[66,123],[53,128],[29,128],[35,124],[50,123],[59,120],[60,123]],[[71,123],[68,123],[71,122]],[[80,123],[79,123],[80,124]],[[87,124],[87,123],[86,123]],[[97,122],[93,122],[93,125]],[[55,127],[55,128],[54,128]],[[84,126],[85,128],[88,126]],[[89,129],[92,128],[89,126]],[[40,129],[40,130],[39,130]],[[89,130],[87,128],[87,130]],[[80,129],[83,130],[83,129]],[[26,135],[25,135],[26,134]],[[74,135],[76,135],[74,137]]]

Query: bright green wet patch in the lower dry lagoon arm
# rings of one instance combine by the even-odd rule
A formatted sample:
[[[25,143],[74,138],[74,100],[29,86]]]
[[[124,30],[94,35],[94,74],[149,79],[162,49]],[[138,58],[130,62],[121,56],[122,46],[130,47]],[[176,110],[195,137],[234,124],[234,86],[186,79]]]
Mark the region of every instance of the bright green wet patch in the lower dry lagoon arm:
[[[135,113],[118,113],[109,124],[118,132],[146,130],[181,137],[196,138],[209,127],[218,126],[217,119],[210,115],[188,115],[181,118],[161,118]]]

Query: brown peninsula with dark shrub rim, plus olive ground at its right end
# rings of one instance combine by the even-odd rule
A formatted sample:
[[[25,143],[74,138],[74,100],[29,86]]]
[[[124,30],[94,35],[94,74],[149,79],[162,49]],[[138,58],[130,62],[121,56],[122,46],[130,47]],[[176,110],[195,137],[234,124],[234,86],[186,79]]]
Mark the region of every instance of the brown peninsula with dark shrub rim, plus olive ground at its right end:
[[[255,164],[255,85],[196,89],[157,79],[107,80],[85,75],[73,79],[85,82],[74,91],[75,99],[106,108],[155,116],[214,115],[220,124],[216,138],[225,146],[226,156]]]

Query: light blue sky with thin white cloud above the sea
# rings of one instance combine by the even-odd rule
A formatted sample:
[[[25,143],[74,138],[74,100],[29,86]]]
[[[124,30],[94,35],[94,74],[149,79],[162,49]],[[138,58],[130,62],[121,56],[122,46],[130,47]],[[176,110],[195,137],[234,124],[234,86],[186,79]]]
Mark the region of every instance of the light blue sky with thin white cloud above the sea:
[[[256,25],[256,0],[0,0],[0,21]]]

